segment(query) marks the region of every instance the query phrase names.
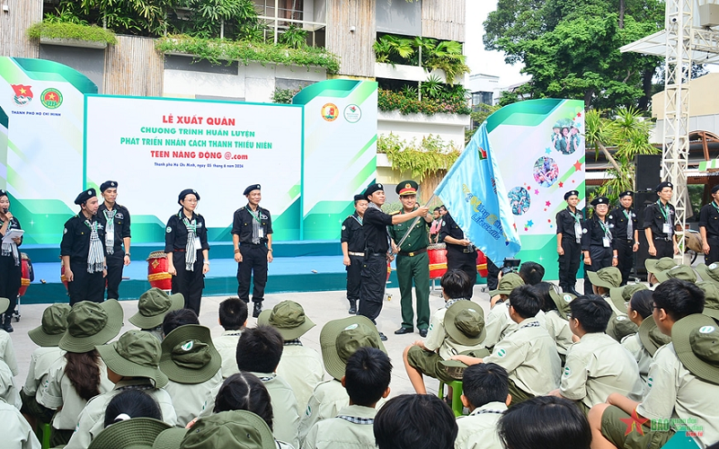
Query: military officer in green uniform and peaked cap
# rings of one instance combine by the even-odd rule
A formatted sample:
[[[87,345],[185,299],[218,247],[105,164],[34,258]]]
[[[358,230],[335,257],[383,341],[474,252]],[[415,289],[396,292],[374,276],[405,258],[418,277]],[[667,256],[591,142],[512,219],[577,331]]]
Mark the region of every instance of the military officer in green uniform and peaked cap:
[[[405,215],[414,212],[417,205],[418,185],[413,180],[403,180],[395,191],[402,202],[402,210],[395,214]],[[397,254],[397,281],[402,298],[402,327],[395,330],[401,335],[413,331],[414,313],[412,309],[412,283],[414,281],[414,296],[417,304],[417,329],[422,337],[427,336],[430,327],[430,256],[427,254],[427,245],[430,242],[429,228],[432,216],[423,216],[416,225],[410,229],[412,222],[389,226],[389,236],[392,239],[393,252]],[[406,235],[406,238],[404,238]],[[404,238],[401,246],[399,242]]]

